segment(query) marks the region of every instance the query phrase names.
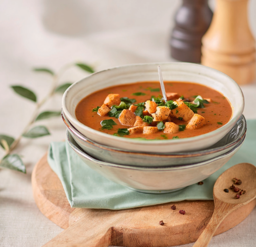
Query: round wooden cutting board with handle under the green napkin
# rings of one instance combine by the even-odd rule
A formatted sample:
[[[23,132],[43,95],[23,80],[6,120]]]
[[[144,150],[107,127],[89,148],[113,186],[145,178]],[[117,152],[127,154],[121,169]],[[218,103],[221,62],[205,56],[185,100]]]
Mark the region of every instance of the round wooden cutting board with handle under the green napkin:
[[[161,247],[195,242],[209,222],[213,201],[181,201],[133,209],[71,208],[62,184],[47,163],[46,155],[32,173],[35,202],[40,211],[66,229],[44,246]],[[176,205],[176,210],[170,206]],[[215,235],[244,220],[256,199],[228,215]],[[186,211],[185,215],[179,210]],[[159,221],[163,220],[163,226]]]

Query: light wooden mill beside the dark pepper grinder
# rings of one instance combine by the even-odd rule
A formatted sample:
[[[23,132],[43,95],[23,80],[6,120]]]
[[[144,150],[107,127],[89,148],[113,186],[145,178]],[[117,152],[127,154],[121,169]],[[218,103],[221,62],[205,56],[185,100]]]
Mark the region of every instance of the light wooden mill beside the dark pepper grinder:
[[[248,0],[216,0],[202,38],[201,64],[218,69],[239,85],[255,79],[255,40],[248,24]]]

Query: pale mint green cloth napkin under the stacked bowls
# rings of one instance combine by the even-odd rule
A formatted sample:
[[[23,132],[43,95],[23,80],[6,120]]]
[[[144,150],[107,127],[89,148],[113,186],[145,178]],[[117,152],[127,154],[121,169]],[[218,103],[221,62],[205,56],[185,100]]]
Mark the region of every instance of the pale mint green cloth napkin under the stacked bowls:
[[[193,184],[166,194],[136,192],[104,178],[87,167],[67,142],[50,144],[48,163],[60,178],[71,207],[127,209],[183,200],[213,200],[213,185],[221,173],[242,162],[256,165],[255,148],[256,119],[247,121],[246,139],[240,150],[203,185]]]

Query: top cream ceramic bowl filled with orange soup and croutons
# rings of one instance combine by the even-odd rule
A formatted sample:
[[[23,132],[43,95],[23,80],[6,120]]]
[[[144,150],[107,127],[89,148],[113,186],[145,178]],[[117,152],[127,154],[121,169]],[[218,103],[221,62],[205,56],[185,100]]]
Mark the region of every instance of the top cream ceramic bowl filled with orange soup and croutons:
[[[158,65],[170,104],[162,101]],[[62,108],[80,133],[99,144],[176,153],[203,150],[222,139],[240,118],[244,99],[238,84],[215,69],[194,63],[151,63],[91,74],[66,90]],[[146,126],[136,125],[135,119]]]

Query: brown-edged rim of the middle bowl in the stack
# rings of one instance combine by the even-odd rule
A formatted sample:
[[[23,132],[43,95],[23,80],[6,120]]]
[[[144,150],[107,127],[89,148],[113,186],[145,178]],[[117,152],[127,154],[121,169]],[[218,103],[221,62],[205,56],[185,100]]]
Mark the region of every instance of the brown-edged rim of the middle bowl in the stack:
[[[197,150],[197,151],[188,151],[188,152],[177,152],[177,153],[145,153],[145,152],[136,152],[136,151],[130,151],[130,150],[122,150],[116,147],[108,147],[105,146],[103,144],[97,143],[89,138],[87,138],[86,136],[84,136],[82,133],[80,133],[70,122],[69,120],[66,118],[63,109],[61,110],[61,117],[62,120],[64,122],[64,124],[66,125],[67,131],[71,131],[75,136],[77,136],[79,139],[83,140],[84,142],[87,142],[93,146],[96,146],[100,149],[104,149],[104,150],[108,150],[111,152],[116,152],[116,153],[125,153],[125,154],[136,154],[138,156],[154,156],[154,157],[162,157],[162,158],[179,158],[180,156],[182,157],[198,157],[198,156],[203,156],[203,155],[209,155],[212,153],[216,153],[220,150],[226,149],[230,146],[236,145],[238,142],[241,141],[241,139],[243,139],[243,137],[246,135],[246,130],[247,130],[247,123],[246,123],[246,119],[243,116],[243,114],[240,116],[239,119],[241,119],[244,122],[244,126],[243,126],[243,131],[241,132],[241,136],[237,139],[235,139],[234,141],[230,142],[229,144],[226,144],[224,146],[221,147],[214,147],[214,148],[208,148],[208,149],[204,149],[204,150]],[[238,120],[239,120],[238,119]]]

